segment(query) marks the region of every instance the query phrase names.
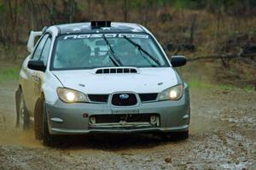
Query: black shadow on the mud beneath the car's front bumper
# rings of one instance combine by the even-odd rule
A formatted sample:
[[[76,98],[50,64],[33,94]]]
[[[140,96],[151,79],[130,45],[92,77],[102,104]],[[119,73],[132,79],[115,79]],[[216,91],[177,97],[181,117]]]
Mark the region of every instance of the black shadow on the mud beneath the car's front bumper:
[[[88,134],[59,137],[54,147],[61,150],[128,150],[131,148],[144,149],[158,146],[160,144],[169,144],[181,142],[183,140],[172,137],[162,138],[160,135],[153,134]]]

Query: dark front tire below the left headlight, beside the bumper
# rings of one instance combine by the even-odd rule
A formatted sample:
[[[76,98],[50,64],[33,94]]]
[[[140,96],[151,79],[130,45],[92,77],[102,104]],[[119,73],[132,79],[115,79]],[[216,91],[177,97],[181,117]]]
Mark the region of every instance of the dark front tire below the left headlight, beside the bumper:
[[[45,146],[55,146],[55,136],[49,133],[48,118],[47,118],[45,103],[44,103],[44,109],[43,109],[43,144]]]

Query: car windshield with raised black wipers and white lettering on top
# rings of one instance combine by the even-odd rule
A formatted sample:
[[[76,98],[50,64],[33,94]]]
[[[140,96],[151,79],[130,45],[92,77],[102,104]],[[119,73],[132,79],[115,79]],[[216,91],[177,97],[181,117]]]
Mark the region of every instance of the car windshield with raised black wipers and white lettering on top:
[[[160,48],[148,34],[78,34],[57,37],[52,70],[97,67],[166,67]]]

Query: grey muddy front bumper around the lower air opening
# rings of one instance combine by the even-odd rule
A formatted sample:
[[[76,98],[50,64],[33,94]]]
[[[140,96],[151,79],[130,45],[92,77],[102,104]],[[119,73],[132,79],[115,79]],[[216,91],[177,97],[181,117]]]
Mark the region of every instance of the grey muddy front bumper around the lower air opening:
[[[46,111],[51,134],[84,133],[153,133],[179,132],[189,129],[189,91],[185,90],[179,100],[141,103],[136,106],[116,107],[107,104],[75,103],[66,104],[57,100],[54,105],[46,103]],[[84,117],[84,113],[88,116]],[[160,117],[158,126],[128,126],[129,124],[109,124],[104,128],[91,126],[90,116],[98,115],[152,115]]]

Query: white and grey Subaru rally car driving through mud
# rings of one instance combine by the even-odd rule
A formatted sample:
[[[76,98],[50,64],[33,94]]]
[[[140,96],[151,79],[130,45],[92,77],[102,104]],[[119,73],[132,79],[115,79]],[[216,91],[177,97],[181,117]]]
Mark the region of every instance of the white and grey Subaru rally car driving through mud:
[[[36,37],[40,37],[35,45]],[[31,31],[16,91],[17,127],[61,134],[159,133],[189,137],[189,88],[152,33],[110,21]]]

